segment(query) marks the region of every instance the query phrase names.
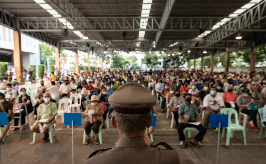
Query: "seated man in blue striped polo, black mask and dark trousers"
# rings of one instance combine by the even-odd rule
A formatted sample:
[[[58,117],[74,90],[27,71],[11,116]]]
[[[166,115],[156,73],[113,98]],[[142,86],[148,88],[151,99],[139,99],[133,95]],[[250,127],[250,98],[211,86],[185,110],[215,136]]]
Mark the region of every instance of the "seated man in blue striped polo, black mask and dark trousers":
[[[190,140],[190,143],[195,146],[196,148],[200,148],[200,145],[198,144],[198,141],[201,142],[205,133],[206,133],[206,129],[204,128],[204,126],[200,125],[193,125],[193,124],[189,124],[189,122],[199,122],[199,116],[198,116],[198,109],[196,107],[195,104],[191,104],[191,94],[187,93],[185,94],[185,103],[182,103],[178,109],[178,115],[179,115],[179,119],[182,120],[182,123],[180,122],[177,128],[177,132],[179,135],[179,140],[180,141],[184,141],[183,145],[181,145],[181,148],[186,148],[188,143],[185,139],[183,130],[186,127],[193,127],[196,128],[197,130],[199,130],[199,133]],[[191,112],[190,112],[191,111]],[[184,118],[183,116],[187,115],[187,118]]]

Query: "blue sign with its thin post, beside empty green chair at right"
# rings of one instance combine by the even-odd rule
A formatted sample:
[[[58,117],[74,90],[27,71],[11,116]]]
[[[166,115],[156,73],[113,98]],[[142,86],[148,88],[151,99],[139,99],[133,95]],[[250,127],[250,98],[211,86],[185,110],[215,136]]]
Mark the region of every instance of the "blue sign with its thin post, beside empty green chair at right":
[[[210,127],[218,127],[218,141],[217,141],[217,156],[216,164],[219,162],[219,144],[221,127],[225,128],[228,126],[228,114],[211,114]]]

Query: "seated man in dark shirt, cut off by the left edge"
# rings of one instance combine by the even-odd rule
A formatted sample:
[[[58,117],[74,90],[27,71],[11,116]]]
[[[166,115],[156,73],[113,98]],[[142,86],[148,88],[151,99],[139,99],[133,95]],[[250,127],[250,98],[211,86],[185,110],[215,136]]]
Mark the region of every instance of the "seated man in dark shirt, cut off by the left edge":
[[[12,119],[14,118],[14,113],[13,113],[12,110],[13,110],[13,104],[5,99],[4,93],[0,93],[0,112],[8,113],[7,114],[8,125],[4,125],[4,129],[2,131],[2,134],[1,134],[1,137],[0,137],[0,141],[5,136],[5,133],[9,129],[10,121],[12,121]],[[2,127],[0,126],[0,128],[2,128]]]

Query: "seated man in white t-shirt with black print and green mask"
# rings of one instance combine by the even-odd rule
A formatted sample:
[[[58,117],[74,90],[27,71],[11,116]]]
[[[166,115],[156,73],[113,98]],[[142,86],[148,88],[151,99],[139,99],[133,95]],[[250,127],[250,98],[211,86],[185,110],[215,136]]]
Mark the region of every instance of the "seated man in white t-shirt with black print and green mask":
[[[204,126],[209,129],[210,115],[221,114],[220,110],[225,107],[224,101],[221,96],[216,95],[216,88],[211,87],[210,93],[203,99],[204,110]],[[218,128],[213,128],[213,131],[218,132]]]

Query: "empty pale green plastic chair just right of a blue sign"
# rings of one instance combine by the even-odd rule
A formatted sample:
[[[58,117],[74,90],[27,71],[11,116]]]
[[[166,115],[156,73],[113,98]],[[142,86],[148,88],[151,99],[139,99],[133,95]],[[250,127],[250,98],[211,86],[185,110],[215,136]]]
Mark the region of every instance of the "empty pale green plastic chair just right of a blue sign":
[[[239,125],[237,111],[233,108],[222,108],[221,114],[228,114],[228,127],[226,127],[227,133],[226,133],[225,145],[229,146],[230,138],[234,137],[234,131],[241,130],[243,132],[244,145],[246,146],[247,145],[246,131],[245,131],[245,128],[243,126]],[[231,122],[232,114],[235,114],[235,123]],[[222,138],[224,137],[224,134],[225,134],[225,128],[222,128]]]

